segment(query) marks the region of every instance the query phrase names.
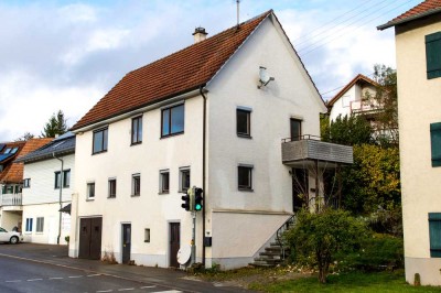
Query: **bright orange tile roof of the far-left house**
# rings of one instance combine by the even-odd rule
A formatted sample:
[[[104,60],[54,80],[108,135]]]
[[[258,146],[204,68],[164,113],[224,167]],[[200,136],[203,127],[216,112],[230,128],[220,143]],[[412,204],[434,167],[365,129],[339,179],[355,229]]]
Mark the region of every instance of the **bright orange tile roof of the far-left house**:
[[[20,142],[11,142],[7,143],[7,146],[19,146],[19,151],[17,155],[12,159],[15,159],[21,155],[25,155],[26,153],[33,152],[36,149],[40,149],[44,144],[51,142],[53,139],[30,139],[28,141]],[[2,172],[0,172],[0,182],[1,183],[21,183],[23,181],[23,163],[10,162],[4,165]]]

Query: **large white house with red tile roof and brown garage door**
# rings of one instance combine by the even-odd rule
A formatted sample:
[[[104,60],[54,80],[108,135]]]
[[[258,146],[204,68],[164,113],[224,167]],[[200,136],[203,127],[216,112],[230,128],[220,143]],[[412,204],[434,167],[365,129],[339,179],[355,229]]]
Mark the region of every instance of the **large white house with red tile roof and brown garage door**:
[[[197,186],[196,261],[246,265],[298,207],[292,167],[333,159],[337,145],[299,141],[326,107],[272,11],[205,35],[128,73],[73,127],[71,257],[178,267],[192,239],[181,196]]]

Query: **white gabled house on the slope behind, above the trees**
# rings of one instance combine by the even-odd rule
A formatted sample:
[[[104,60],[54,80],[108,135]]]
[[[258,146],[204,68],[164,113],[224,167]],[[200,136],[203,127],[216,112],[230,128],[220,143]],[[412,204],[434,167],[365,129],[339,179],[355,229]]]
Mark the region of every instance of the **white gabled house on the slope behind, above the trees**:
[[[326,104],[330,121],[335,121],[338,116],[365,115],[374,119],[380,110],[375,100],[378,84],[373,79],[358,74],[342,90]]]

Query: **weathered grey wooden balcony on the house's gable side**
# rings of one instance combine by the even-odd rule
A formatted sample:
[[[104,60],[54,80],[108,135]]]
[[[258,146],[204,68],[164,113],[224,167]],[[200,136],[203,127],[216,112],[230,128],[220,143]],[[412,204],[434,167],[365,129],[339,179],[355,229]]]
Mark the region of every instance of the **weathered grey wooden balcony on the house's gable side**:
[[[282,163],[292,167],[319,162],[321,167],[353,164],[353,148],[321,141],[313,135],[302,135],[299,140],[282,140]]]

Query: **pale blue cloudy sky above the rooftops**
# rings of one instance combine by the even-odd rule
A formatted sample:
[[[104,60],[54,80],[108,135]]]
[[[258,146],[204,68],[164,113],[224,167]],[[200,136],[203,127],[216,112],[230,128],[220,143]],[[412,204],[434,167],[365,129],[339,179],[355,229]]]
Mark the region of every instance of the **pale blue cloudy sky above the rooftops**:
[[[240,22],[273,9],[324,99],[375,64],[395,68],[394,29],[420,0],[241,0]],[[0,142],[72,127],[128,72],[237,23],[236,0],[0,0]]]

